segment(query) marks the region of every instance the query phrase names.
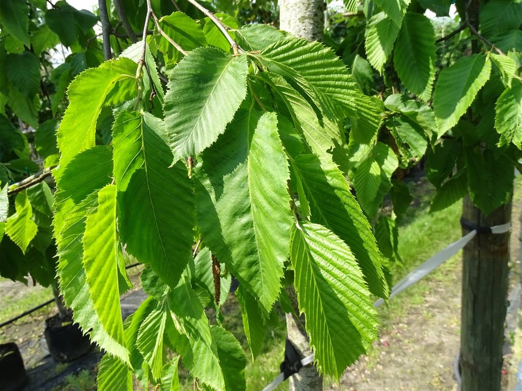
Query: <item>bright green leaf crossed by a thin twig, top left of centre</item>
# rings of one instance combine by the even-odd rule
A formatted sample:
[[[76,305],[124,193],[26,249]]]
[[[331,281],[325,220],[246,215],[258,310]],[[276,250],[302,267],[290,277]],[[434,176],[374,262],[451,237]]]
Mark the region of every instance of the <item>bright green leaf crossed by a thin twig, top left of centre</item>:
[[[174,12],[171,15],[164,16],[159,22],[165,34],[186,52],[206,44],[200,24],[183,12]],[[182,54],[162,35],[155,35],[155,39],[158,49],[165,56],[165,65],[167,68],[173,67],[181,59]]]

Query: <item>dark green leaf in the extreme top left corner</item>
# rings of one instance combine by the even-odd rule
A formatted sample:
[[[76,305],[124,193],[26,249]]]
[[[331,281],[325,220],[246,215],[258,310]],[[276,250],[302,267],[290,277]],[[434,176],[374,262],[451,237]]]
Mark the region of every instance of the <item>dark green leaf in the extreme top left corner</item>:
[[[0,23],[8,34],[18,41],[31,46],[29,42],[29,6],[20,0],[2,0],[0,2]]]

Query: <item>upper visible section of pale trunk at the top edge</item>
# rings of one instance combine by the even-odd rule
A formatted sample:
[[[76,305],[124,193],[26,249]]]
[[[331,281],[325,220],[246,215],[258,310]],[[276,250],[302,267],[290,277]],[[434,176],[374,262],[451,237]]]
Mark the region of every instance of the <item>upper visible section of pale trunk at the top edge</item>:
[[[309,41],[322,41],[324,0],[280,0],[279,28]]]

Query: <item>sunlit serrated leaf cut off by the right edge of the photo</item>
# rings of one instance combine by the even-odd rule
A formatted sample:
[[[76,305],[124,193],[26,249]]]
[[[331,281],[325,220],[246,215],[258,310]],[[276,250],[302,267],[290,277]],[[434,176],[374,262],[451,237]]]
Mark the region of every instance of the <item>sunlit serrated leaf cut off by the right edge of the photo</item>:
[[[513,81],[495,106],[495,129],[500,133],[499,147],[513,143],[522,149],[522,83]]]

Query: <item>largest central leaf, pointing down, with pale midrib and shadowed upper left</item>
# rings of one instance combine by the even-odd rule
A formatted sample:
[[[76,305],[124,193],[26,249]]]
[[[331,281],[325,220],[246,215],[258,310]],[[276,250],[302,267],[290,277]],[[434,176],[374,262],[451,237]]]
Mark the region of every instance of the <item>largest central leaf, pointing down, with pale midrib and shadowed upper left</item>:
[[[274,113],[239,114],[203,155],[198,225],[212,254],[269,312],[288,257],[288,162]]]

